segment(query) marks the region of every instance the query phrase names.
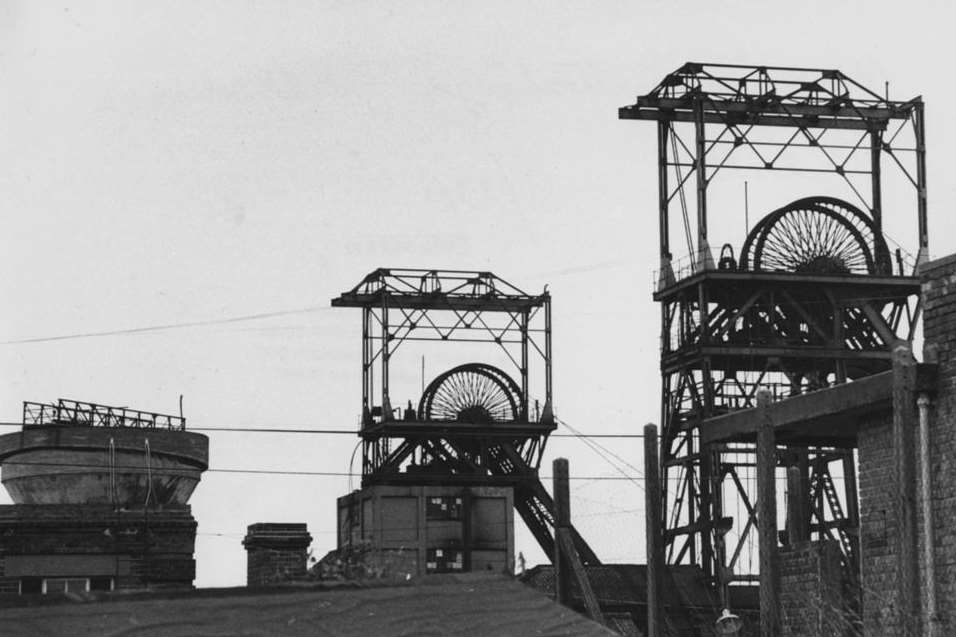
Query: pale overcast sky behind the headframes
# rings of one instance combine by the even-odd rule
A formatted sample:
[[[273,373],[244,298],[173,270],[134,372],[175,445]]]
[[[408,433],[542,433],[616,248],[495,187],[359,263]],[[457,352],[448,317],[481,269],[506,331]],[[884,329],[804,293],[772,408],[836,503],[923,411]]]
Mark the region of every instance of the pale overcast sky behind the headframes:
[[[189,426],[352,429],[359,313],[329,300],[404,266],[548,285],[558,416],[640,433],[660,411],[656,131],[617,108],[689,60],[922,94],[944,256],[956,89],[933,60],[953,56],[953,17],[945,2],[2,2],[0,420],[58,397],[175,413],[182,394]],[[778,195],[755,184],[751,214]],[[887,197],[907,207],[888,219],[912,218],[908,193]],[[57,336],[76,337],[33,340]],[[211,433],[210,463],[348,472],[356,442]],[[555,438],[543,473],[563,456],[572,476],[633,478],[574,480],[572,515],[605,561],[642,561],[640,440],[602,444],[617,468]],[[244,583],[254,522],[306,522],[315,555],[334,548],[335,499],[357,482],[205,474],[197,585]],[[516,548],[545,559],[523,529]]]

